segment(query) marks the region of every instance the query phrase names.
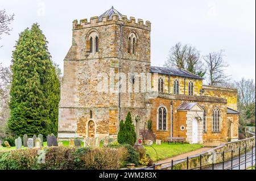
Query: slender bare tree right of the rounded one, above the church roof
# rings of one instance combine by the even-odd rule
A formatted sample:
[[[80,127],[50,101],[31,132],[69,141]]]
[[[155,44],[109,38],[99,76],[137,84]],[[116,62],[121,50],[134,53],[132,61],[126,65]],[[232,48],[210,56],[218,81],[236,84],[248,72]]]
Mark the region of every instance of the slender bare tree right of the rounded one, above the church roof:
[[[220,50],[220,52],[212,52],[203,56],[208,82],[211,86],[225,86],[225,82],[229,80],[229,75],[225,75],[224,72],[228,64],[223,60],[223,52],[223,50]]]

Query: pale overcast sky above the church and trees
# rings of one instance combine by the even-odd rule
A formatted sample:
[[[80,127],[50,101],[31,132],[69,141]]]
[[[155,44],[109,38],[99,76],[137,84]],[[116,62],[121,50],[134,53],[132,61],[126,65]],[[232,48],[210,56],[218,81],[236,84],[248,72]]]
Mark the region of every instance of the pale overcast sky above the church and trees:
[[[15,14],[11,35],[0,40],[0,62],[11,64],[19,33],[38,22],[49,41],[52,60],[63,70],[71,47],[72,21],[99,16],[114,6],[123,15],[151,22],[151,65],[163,66],[177,42],[191,44],[201,55],[225,50],[226,74],[255,79],[255,0],[184,1],[44,1],[0,0],[0,9]]]

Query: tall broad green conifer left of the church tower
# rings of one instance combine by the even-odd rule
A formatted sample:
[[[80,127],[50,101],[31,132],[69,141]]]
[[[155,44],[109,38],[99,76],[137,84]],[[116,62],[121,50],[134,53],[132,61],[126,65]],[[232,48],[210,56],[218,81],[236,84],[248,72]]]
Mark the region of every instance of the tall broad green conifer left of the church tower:
[[[16,41],[8,123],[16,136],[57,132],[60,83],[47,43],[38,24],[20,33]]]

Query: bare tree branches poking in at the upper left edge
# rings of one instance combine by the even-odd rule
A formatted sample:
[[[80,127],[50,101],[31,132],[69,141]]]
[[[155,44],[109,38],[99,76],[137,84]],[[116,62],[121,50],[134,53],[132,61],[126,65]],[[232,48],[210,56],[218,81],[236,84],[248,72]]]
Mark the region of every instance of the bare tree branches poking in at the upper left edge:
[[[0,10],[0,39],[3,33],[9,35],[9,32],[11,31],[9,25],[13,20],[14,14],[7,15],[5,10]]]

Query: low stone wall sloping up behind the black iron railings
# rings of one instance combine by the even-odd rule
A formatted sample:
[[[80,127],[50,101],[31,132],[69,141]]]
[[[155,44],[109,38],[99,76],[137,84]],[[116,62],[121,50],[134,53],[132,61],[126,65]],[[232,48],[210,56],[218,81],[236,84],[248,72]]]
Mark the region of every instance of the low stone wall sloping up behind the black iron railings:
[[[230,151],[224,153],[225,161],[231,158],[231,150],[233,151],[233,157],[236,157],[239,154],[239,148],[241,148],[240,153],[245,153],[245,147],[247,150],[250,150],[252,146],[255,146],[255,137],[246,138],[244,140],[232,141],[226,144],[222,144],[216,148],[205,151],[201,153],[201,165],[209,165],[212,163],[222,162],[223,159],[223,151]],[[189,158],[188,161],[188,169],[192,169],[200,166],[200,155],[196,157]],[[163,166],[162,169],[170,170],[171,165]],[[179,163],[174,162],[174,170],[185,170],[187,169],[187,160],[181,161]]]

